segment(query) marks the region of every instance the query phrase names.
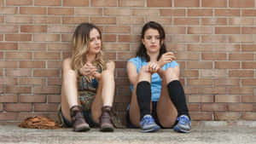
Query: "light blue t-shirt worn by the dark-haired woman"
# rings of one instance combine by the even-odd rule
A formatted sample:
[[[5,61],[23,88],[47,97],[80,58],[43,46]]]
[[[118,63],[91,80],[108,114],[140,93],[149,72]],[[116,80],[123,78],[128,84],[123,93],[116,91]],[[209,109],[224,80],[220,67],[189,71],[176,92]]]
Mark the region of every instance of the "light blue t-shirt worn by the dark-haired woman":
[[[137,73],[139,73],[139,70],[142,68],[142,66],[146,66],[148,63],[146,60],[143,60],[140,57],[131,58],[130,60],[136,67],[137,67]],[[175,67],[179,66],[178,63],[175,60],[172,60],[172,62],[167,63],[165,66],[162,66],[162,69],[165,71],[169,67]],[[160,78],[160,75],[158,73],[154,73],[151,78],[151,101],[158,101],[160,98],[160,92],[161,92],[161,83],[162,79]],[[131,91],[133,90],[133,85],[131,84]]]

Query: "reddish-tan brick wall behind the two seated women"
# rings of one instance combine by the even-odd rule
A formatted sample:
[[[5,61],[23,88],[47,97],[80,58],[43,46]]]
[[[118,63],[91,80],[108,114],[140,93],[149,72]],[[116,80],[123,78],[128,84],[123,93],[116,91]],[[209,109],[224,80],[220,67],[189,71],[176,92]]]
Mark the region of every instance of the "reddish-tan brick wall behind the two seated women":
[[[256,0],[0,0],[0,122],[56,118],[61,61],[75,26],[102,29],[116,61],[115,108],[131,99],[125,61],[145,22],[166,30],[182,67],[191,118],[256,120]]]

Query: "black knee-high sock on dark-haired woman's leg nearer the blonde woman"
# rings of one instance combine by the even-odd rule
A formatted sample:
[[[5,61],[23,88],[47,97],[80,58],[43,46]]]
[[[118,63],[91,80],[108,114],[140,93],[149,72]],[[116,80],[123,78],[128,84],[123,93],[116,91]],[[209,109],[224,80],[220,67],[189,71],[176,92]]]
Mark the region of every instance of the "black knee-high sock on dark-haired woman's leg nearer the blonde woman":
[[[139,82],[136,93],[142,119],[146,114],[150,114],[151,84],[147,81]]]

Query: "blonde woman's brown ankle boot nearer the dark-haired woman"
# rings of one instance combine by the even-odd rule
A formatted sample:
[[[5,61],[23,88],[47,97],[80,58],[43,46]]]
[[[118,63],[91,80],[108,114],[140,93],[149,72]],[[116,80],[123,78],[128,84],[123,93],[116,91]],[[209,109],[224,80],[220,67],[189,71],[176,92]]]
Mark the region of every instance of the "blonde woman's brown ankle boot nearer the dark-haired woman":
[[[113,131],[113,124],[110,116],[111,107],[102,107],[102,116],[100,118],[101,131]]]

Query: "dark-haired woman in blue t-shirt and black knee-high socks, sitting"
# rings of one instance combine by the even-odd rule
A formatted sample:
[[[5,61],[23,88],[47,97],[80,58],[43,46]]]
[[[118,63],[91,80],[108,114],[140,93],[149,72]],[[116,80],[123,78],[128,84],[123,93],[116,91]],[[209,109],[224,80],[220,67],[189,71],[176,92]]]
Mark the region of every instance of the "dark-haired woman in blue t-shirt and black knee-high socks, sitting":
[[[127,127],[153,132],[174,126],[177,132],[190,132],[189,110],[179,81],[180,67],[175,55],[166,51],[165,37],[160,24],[146,23],[137,57],[127,62],[132,91]]]

